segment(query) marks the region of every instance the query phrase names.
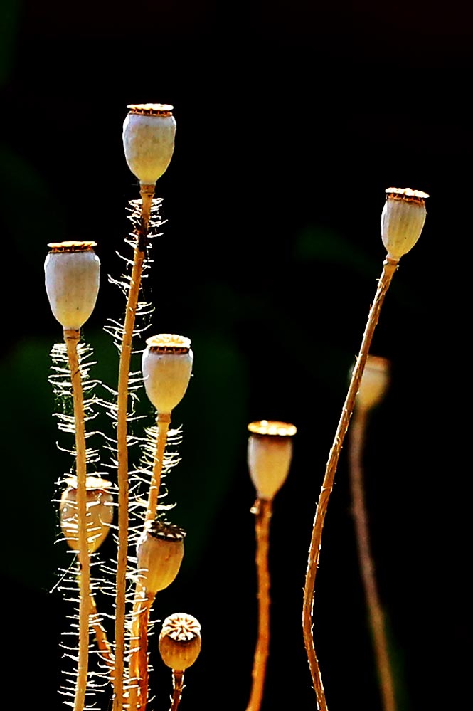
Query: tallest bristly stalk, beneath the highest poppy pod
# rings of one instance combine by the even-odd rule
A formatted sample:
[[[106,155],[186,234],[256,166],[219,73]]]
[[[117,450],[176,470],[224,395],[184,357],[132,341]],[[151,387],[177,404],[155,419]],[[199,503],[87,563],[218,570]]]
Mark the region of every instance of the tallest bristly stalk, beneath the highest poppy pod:
[[[149,186],[147,186],[149,187]],[[154,191],[154,190],[153,190]],[[139,289],[145,260],[146,236],[152,206],[150,191],[142,191],[142,226],[134,248],[132,275],[124,317],[122,347],[119,359],[117,396],[117,463],[118,463],[118,550],[117,590],[115,595],[115,697],[113,711],[123,711],[125,653],[125,591],[128,562],[128,385],[132,357],[132,340],[136,320]]]

